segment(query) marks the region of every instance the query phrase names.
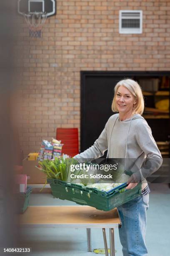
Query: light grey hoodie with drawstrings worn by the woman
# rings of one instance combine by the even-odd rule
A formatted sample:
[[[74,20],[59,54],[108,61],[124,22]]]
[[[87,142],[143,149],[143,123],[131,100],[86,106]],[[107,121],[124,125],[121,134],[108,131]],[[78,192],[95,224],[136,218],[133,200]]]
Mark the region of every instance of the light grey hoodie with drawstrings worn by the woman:
[[[119,119],[119,114],[112,115],[94,145],[77,154],[75,158],[97,159],[103,156],[107,149],[109,158],[134,159],[139,170],[135,171],[135,174],[138,180],[143,180],[144,183],[145,178],[157,171],[163,162],[151,129],[140,114],[124,121]],[[144,164],[146,158],[150,161],[149,168]]]

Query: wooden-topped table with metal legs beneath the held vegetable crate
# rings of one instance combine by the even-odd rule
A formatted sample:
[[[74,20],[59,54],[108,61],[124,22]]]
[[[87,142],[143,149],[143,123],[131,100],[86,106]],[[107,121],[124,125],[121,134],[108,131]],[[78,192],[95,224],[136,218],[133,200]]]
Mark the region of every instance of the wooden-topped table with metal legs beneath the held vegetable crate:
[[[117,209],[108,212],[90,206],[28,206],[20,215],[23,228],[86,228],[91,251],[90,228],[102,228],[105,254],[108,256],[105,228],[110,228],[110,256],[115,256],[114,228],[121,227]]]

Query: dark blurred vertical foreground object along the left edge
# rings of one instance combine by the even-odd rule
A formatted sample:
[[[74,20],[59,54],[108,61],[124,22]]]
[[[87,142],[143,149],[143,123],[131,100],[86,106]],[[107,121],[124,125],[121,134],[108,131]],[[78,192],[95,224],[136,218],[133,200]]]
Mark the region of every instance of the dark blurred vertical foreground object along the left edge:
[[[0,1],[0,247],[15,247],[18,244],[13,196],[15,136],[10,111],[13,81],[17,84],[13,58],[17,37],[15,14],[16,0]]]

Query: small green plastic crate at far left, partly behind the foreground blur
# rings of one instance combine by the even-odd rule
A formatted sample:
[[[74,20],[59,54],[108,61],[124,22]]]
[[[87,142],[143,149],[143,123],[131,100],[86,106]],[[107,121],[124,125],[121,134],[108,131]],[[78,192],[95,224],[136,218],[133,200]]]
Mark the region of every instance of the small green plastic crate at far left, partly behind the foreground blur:
[[[24,213],[29,205],[30,193],[32,192],[32,187],[27,187],[25,193],[19,193],[17,197],[18,201],[18,213]]]

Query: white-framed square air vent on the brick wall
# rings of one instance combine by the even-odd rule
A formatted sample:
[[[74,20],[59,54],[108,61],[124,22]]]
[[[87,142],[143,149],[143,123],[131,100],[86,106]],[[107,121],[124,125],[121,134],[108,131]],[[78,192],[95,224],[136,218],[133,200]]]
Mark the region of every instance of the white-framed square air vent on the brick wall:
[[[119,33],[140,34],[142,33],[142,10],[119,11]]]

